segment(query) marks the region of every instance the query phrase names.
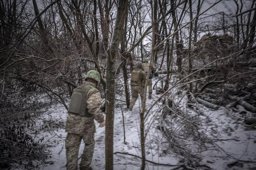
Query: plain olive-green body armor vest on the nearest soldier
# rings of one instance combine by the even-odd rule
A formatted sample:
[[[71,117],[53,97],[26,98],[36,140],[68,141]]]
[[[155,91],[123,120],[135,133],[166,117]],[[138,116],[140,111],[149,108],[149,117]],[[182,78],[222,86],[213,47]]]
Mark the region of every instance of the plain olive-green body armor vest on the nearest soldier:
[[[93,86],[79,86],[77,87],[71,96],[71,100],[68,107],[68,113],[79,116],[91,117],[92,114],[88,113],[86,95],[87,92],[94,88]]]

